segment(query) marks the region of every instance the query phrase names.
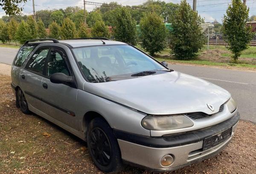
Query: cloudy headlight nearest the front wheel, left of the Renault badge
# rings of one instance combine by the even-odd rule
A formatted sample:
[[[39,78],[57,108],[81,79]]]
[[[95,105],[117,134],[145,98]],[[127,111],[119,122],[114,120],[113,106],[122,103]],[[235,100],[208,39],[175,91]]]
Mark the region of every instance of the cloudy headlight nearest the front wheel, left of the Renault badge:
[[[154,131],[164,131],[178,128],[187,128],[194,123],[183,115],[170,116],[146,116],[143,118],[141,125],[143,128]]]

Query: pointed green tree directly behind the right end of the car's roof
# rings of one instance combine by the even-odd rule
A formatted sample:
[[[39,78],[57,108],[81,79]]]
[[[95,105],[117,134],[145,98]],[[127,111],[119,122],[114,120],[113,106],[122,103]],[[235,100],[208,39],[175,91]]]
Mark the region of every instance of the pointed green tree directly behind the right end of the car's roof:
[[[117,12],[114,25],[113,31],[116,40],[136,45],[136,21],[131,18],[130,12],[125,7],[120,8]]]

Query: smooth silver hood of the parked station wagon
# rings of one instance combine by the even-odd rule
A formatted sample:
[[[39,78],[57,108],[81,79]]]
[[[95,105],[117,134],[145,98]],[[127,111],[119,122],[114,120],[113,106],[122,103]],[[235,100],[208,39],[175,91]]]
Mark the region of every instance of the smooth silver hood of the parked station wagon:
[[[84,83],[84,91],[155,115],[214,114],[230,98],[230,93],[223,88],[177,71],[113,82]],[[215,110],[211,111],[207,103]]]

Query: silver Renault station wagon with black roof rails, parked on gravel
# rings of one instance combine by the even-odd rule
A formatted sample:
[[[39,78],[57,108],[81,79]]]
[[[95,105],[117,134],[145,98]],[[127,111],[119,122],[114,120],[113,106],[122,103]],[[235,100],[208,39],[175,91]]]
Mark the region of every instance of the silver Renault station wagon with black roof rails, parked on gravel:
[[[12,65],[20,110],[87,142],[95,165],[173,171],[218,154],[240,115],[230,93],[105,38],[29,40]]]

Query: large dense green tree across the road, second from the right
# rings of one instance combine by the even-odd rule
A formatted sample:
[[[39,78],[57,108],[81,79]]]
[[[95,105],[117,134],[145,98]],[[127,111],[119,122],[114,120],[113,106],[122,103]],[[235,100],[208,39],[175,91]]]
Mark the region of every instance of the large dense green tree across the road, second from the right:
[[[180,6],[172,17],[170,32],[171,54],[180,60],[193,59],[204,46],[205,37],[201,30],[203,19],[193,11],[186,0],[182,0]]]

